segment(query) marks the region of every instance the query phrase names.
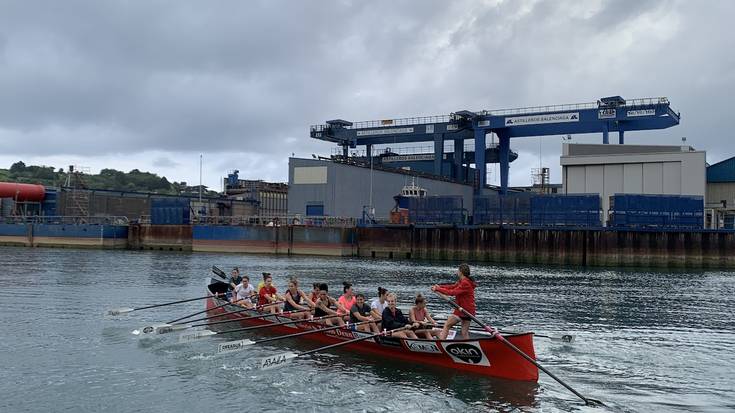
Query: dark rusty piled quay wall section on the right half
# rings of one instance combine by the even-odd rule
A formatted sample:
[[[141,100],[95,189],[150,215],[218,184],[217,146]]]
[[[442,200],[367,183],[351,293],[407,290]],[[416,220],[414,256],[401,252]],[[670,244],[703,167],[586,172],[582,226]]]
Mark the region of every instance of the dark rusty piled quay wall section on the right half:
[[[358,228],[361,257],[600,267],[735,268],[735,232]]]

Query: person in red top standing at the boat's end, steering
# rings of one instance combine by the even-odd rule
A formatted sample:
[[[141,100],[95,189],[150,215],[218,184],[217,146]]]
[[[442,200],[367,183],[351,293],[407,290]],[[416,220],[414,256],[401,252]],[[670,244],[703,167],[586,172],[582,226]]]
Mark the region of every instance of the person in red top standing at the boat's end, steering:
[[[457,269],[457,277],[458,280],[456,283],[434,285],[431,287],[431,291],[456,297],[455,301],[457,305],[464,308],[470,314],[475,315],[475,288],[477,287],[477,283],[472,276],[470,276],[470,266],[467,264],[460,264],[459,269]],[[461,338],[465,340],[469,339],[470,323],[472,322],[472,319],[459,309],[454,309],[454,312],[449,316],[447,322],[444,323],[444,328],[441,333],[439,333],[439,339],[446,339],[449,334],[449,329],[460,322],[462,323],[462,331],[460,333]]]

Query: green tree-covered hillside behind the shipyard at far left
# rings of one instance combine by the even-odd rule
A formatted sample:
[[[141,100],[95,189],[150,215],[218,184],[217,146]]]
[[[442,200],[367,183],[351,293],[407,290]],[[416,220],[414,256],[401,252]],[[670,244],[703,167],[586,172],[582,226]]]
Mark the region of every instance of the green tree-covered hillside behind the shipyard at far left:
[[[65,186],[69,174],[63,168],[57,171],[53,166],[26,166],[23,162],[14,163],[10,169],[0,169],[0,181],[40,184],[44,186]],[[152,192],[167,195],[198,195],[198,186],[187,186],[186,182],[169,182],[165,177],[154,173],[133,169],[122,172],[105,168],[97,175],[76,174],[71,177],[71,186],[88,189],[111,189],[116,191]],[[81,182],[79,182],[81,181]],[[79,183],[77,183],[79,182]],[[215,191],[206,190],[206,196],[217,196]]]

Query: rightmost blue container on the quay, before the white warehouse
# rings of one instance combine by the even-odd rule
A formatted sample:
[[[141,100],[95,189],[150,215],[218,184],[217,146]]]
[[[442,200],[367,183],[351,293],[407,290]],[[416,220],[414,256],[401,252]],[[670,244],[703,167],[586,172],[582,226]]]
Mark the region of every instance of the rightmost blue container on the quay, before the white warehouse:
[[[701,229],[704,199],[697,195],[615,194],[608,224],[619,228]]]

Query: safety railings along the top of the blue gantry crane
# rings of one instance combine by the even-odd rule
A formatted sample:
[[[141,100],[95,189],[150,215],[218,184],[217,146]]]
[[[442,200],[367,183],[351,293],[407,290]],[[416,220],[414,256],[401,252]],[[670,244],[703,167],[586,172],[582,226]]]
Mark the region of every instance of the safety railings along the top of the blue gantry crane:
[[[621,107],[637,107],[637,106],[650,106],[650,105],[668,105],[669,99],[666,97],[652,97],[652,98],[638,98],[626,100],[625,105]],[[586,103],[569,103],[561,105],[546,105],[546,106],[529,106],[524,108],[511,108],[511,109],[498,109],[498,110],[481,110],[474,113],[482,116],[508,116],[508,115],[523,115],[540,112],[565,112],[570,110],[583,110],[583,109],[597,109],[601,103],[598,102],[586,102]],[[370,128],[386,128],[393,126],[410,126],[410,125],[424,125],[430,123],[446,123],[453,119],[453,115],[436,115],[436,116],[423,116],[423,117],[412,117],[412,118],[398,118],[398,119],[382,119],[382,120],[368,120],[355,122],[352,126],[347,126],[345,129],[370,129]],[[322,132],[327,129],[329,125],[312,125],[310,130],[312,132]]]

